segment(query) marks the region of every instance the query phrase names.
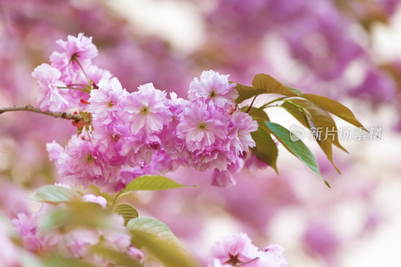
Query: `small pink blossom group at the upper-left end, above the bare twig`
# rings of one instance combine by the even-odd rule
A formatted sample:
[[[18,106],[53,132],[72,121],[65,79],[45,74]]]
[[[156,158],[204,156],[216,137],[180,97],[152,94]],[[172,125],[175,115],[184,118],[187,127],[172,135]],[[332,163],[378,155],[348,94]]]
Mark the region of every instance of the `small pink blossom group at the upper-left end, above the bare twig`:
[[[63,52],[53,52],[51,64],[43,63],[35,68],[32,76],[38,80],[37,103],[42,111],[66,112],[71,108],[84,109],[89,95],[85,93],[102,79],[110,79],[111,73],[92,64],[98,55],[92,37],[82,33],[68,36],[67,41],[56,42]]]

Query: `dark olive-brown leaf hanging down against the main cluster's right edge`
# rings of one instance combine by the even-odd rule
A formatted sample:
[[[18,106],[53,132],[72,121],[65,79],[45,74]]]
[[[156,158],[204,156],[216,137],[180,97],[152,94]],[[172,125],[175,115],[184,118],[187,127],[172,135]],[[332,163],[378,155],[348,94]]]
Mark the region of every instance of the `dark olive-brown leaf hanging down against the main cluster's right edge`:
[[[255,147],[250,148],[252,153],[278,173],[276,163],[278,149],[270,134],[262,127],[259,127],[256,132],[251,133],[251,136],[256,143]]]

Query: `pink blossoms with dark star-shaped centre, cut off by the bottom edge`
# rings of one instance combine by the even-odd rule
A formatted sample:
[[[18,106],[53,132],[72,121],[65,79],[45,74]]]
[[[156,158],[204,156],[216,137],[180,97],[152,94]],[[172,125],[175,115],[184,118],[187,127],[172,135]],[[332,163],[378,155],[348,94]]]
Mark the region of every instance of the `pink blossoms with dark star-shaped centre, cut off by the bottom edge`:
[[[247,267],[286,267],[284,248],[270,244],[262,250],[252,244],[245,233],[221,237],[212,244],[209,267],[228,267],[243,264]]]

